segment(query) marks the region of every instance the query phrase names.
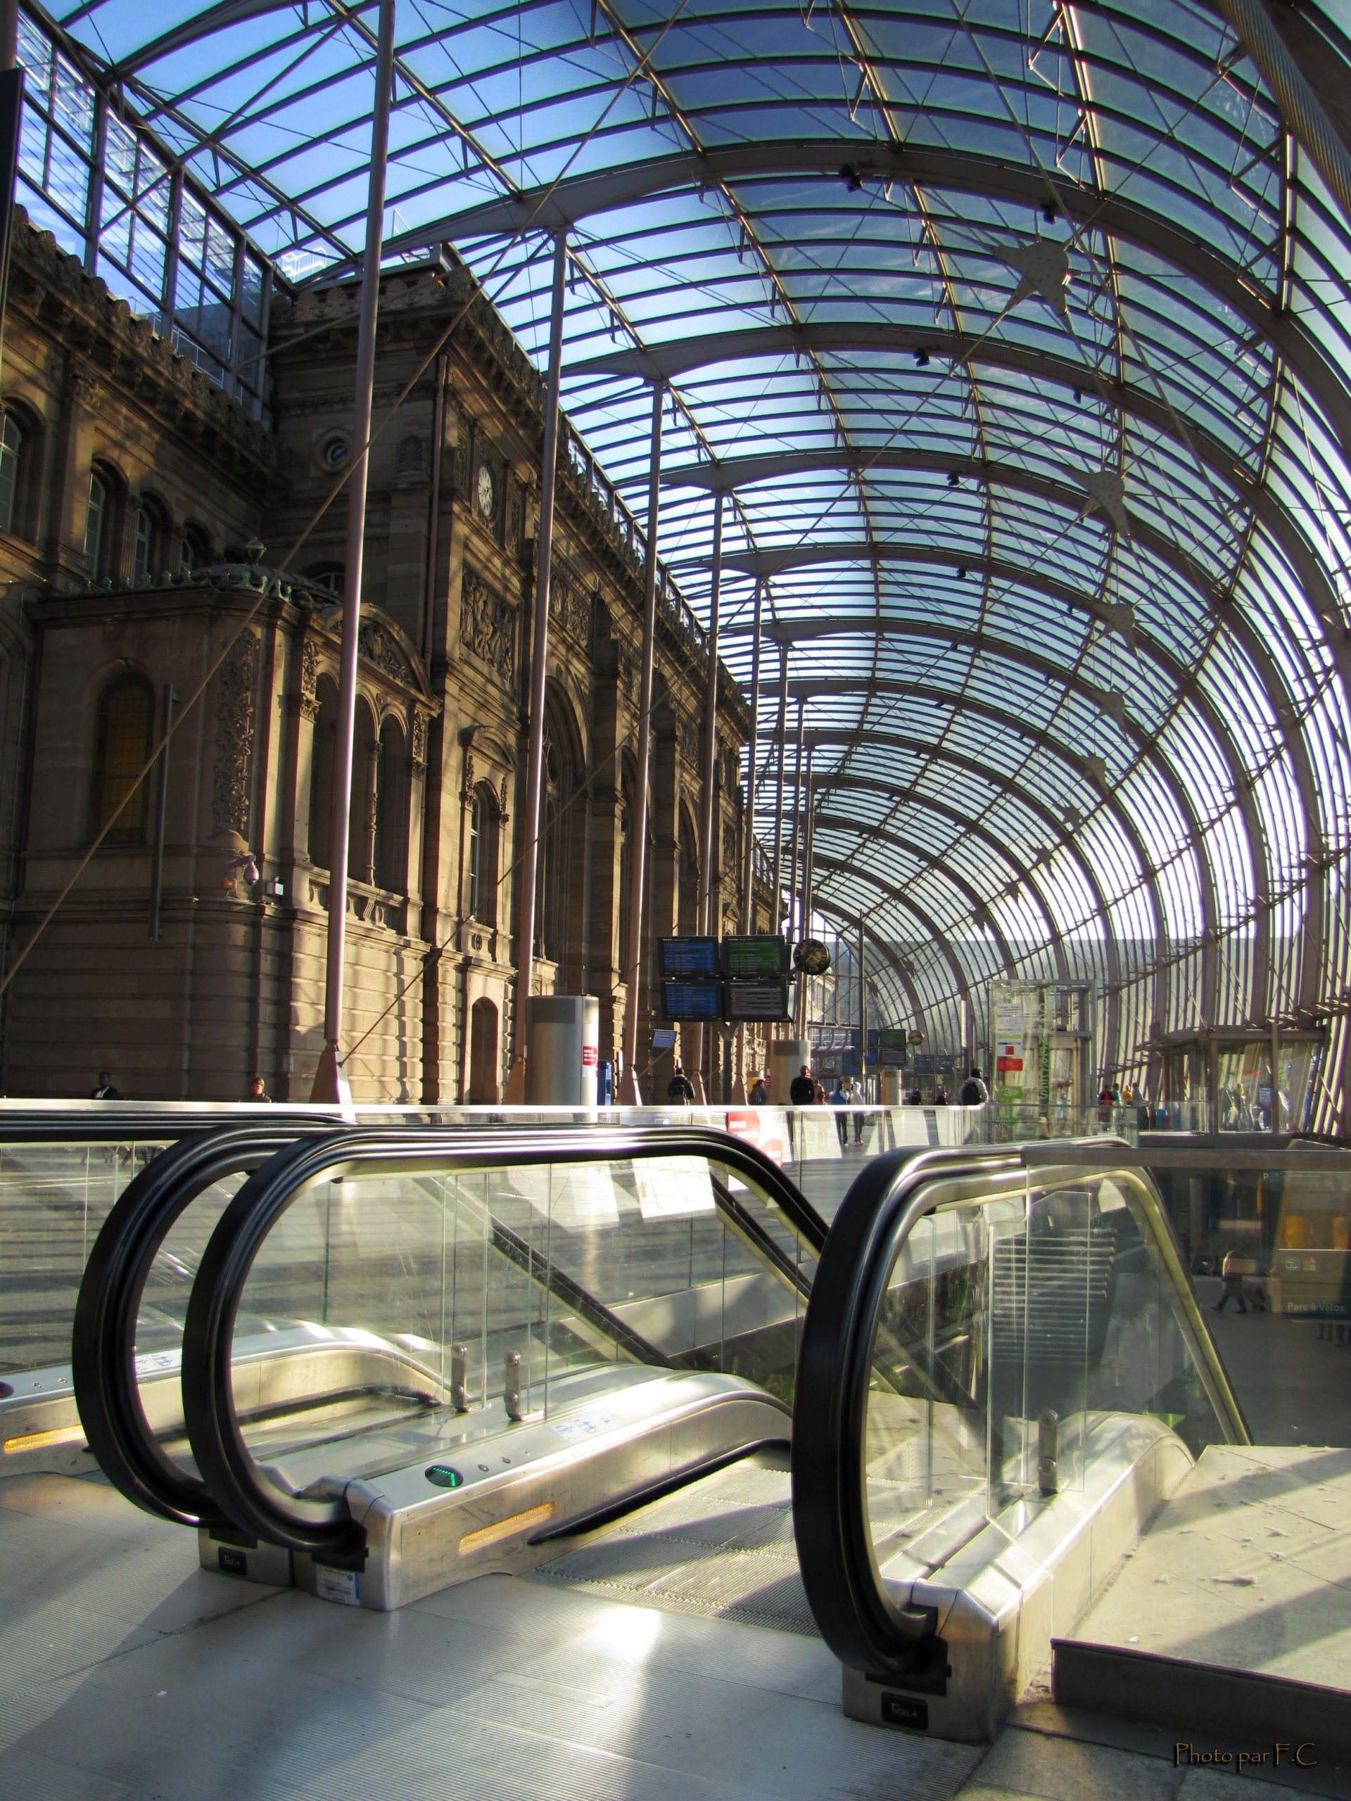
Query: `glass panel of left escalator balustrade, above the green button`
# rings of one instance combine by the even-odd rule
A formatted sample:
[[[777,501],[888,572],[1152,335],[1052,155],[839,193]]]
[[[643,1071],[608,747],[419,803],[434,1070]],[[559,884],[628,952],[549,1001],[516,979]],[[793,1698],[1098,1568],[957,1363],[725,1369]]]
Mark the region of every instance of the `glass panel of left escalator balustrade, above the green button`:
[[[812,1272],[780,1208],[704,1156],[429,1158],[324,1180],[277,1219],[245,1284],[236,1414],[283,1473],[333,1437],[353,1441],[342,1471],[369,1473],[420,1455],[409,1443],[548,1419],[665,1371],[722,1371],[791,1405]]]

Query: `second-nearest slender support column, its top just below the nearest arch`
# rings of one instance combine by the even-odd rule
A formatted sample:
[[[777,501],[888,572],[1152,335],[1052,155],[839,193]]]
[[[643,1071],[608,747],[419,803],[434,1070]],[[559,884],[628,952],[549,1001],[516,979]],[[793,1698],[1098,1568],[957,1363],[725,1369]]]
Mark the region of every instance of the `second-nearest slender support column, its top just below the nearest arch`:
[[[564,283],[567,277],[567,232],[553,240],[553,294],[549,299],[549,375],[544,393],[544,468],[539,493],[539,546],[535,564],[535,607],[530,650],[530,740],[526,746],[526,818],[521,843],[521,900],[517,906],[515,1007],[512,1073],[506,1100],[522,1106],[526,1099],[526,1057],[530,1045],[530,985],[535,976],[535,888],[539,872],[539,821],[544,794],[544,683],[549,657],[549,573],[553,569],[553,504],[558,490],[558,380],[562,375]]]

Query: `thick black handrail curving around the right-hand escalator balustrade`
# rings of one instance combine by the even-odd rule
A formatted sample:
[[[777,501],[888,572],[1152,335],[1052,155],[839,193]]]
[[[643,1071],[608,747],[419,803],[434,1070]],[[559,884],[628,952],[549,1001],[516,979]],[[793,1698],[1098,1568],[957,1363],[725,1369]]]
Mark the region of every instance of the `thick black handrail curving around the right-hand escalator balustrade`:
[[[1020,1176],[1016,1151],[888,1151],[854,1178],[816,1266],[793,1390],[793,1533],[821,1637],[850,1670],[902,1673],[922,1630],[883,1587],[866,1529],[874,1322],[897,1246],[937,1205],[937,1181]]]

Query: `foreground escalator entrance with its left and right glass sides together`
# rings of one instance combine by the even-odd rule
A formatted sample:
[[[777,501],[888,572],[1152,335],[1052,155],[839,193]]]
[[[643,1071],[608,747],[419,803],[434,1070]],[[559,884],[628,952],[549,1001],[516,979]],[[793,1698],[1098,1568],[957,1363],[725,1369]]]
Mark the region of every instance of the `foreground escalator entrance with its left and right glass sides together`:
[[[95,1248],[81,1414],[211,1569],[816,1630],[852,1716],[989,1740],[1194,1461],[1248,1443],[1120,1149],[879,1156],[827,1239],[697,1127],[202,1140]],[[227,1165],[157,1425],[137,1284]]]

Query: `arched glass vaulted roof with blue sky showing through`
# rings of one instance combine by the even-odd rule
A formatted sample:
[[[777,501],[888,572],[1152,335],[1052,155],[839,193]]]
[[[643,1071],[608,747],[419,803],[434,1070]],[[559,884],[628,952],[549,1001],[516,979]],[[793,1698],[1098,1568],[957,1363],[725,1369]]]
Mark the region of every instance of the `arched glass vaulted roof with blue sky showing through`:
[[[757,832],[802,715],[820,913],[938,1041],[1000,974],[1097,982],[1117,1068],[1346,1009],[1349,222],[1245,11],[398,0],[387,256],[452,241],[542,366],[567,229],[566,409],[643,517],[666,384],[661,557],[706,616],[722,506],[744,684],[762,587]],[[1346,0],[1284,11],[1346,76]],[[159,146],[122,292],[157,167],[236,283],[357,267],[375,4],[29,18],[43,223],[103,229],[99,117]]]

